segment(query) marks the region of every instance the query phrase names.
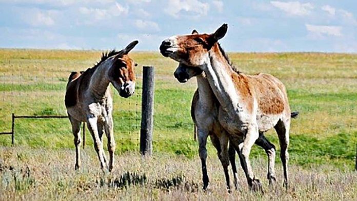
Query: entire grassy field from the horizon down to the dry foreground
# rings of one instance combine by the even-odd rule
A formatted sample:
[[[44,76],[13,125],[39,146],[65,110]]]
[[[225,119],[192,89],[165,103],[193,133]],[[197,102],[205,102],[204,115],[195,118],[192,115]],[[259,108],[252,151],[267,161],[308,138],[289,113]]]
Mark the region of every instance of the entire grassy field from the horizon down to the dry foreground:
[[[10,131],[11,113],[66,115],[64,94],[68,75],[71,71],[91,67],[100,59],[100,55],[98,51],[0,50],[0,132]],[[288,89],[291,109],[300,112],[299,118],[293,119],[291,123],[289,147],[290,164],[292,164],[291,178],[296,182],[295,190],[285,197],[280,189],[281,185],[278,185],[278,187],[273,187],[277,188],[275,189],[277,194],[271,196],[281,199],[313,199],[314,196],[346,199],[347,195],[356,197],[356,175],[351,170],[354,167],[357,144],[357,55],[230,53],[229,56],[233,64],[245,73],[266,72],[280,78]],[[198,147],[193,140],[193,124],[189,111],[191,98],[196,89],[195,79],[186,84],[178,83],[172,75],[177,64],[159,53],[134,52],[131,57],[139,64],[136,68],[138,77],[136,93],[128,99],[121,98],[116,92],[113,95],[116,158],[119,163],[113,175],[121,175],[127,170],[152,174],[153,177],[148,177],[152,183],[154,179],[172,177],[186,170],[180,174],[184,174],[190,182],[201,187]],[[141,66],[143,65],[155,67],[154,159],[150,160],[148,167],[141,163],[138,156]],[[267,137],[278,147],[277,156],[279,156],[276,134],[269,131]],[[209,173],[213,177],[211,179],[213,182],[212,192],[208,194],[201,191],[198,194],[192,194],[182,189],[167,193],[163,190],[152,190],[155,188],[151,188],[149,184],[144,189],[133,187],[123,190],[98,187],[95,179],[98,179],[99,170],[89,169],[89,167],[99,167],[99,164],[94,156],[92,139],[88,132],[85,149],[87,161],[84,164],[87,168],[81,170],[80,174],[75,174],[72,170],[74,145],[68,119],[16,119],[15,147],[8,148],[10,145],[10,136],[0,136],[0,146],[2,146],[0,178],[3,180],[0,194],[9,190],[4,194],[9,198],[31,197],[35,196],[37,191],[41,191],[50,199],[56,197],[72,199],[75,196],[81,197],[87,192],[81,188],[78,190],[78,185],[92,185],[92,183],[93,186],[88,187],[91,192],[89,197],[97,199],[114,198],[119,192],[127,199],[149,199],[150,197],[165,199],[170,196],[175,196],[177,199],[201,196],[203,196],[202,199],[205,196],[212,199],[233,199],[234,196],[240,196],[244,200],[244,197],[253,199],[256,196],[246,192],[247,188],[233,195],[222,194],[224,189],[222,168],[219,167],[215,151],[210,143],[208,143]],[[266,163],[264,151],[254,146],[251,155],[255,158],[254,168],[260,171],[261,178],[265,178],[266,167],[259,165]],[[21,159],[23,156],[25,159]],[[37,157],[43,159],[37,162]],[[170,158],[173,158],[175,163],[170,164]],[[279,161],[277,157],[278,164]],[[3,167],[14,166],[16,168],[2,171],[2,163]],[[127,163],[129,163],[128,167],[124,165]],[[53,164],[53,167],[49,164]],[[25,190],[16,190],[10,173],[15,174],[27,165],[31,172],[34,172],[31,176],[35,184],[31,183],[30,187],[24,187]],[[160,166],[164,169],[156,168],[158,172],[154,172],[149,166]],[[262,166],[264,168],[258,170]],[[41,168],[44,168],[42,175],[38,170]],[[281,175],[281,171],[277,170],[277,174]],[[69,179],[71,177],[74,180]],[[107,179],[108,175],[104,177]],[[243,174],[241,178],[242,186],[244,186]],[[9,180],[8,183],[6,179]],[[44,185],[43,183],[47,180],[48,184]],[[64,184],[58,184],[61,180],[64,180]],[[311,187],[311,185],[323,187],[313,190],[316,187]],[[340,194],[330,192],[339,185],[341,189],[336,191]],[[47,188],[51,189],[48,194],[45,192]],[[266,185],[265,188],[267,188]],[[309,188],[312,189],[309,190]],[[63,190],[70,193],[68,197],[61,195],[60,192]],[[14,194],[14,191],[18,193]],[[71,194],[73,192],[82,193],[74,195]],[[109,195],[105,194],[107,192]],[[140,196],[131,197],[133,194]],[[260,198],[268,199],[266,195]]]

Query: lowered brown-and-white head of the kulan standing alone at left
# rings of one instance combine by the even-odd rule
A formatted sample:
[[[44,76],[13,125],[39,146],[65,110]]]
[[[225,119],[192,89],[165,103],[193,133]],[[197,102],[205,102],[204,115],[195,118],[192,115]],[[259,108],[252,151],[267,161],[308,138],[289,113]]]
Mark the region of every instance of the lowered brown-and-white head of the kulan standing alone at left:
[[[108,71],[109,81],[113,84],[114,88],[119,92],[122,97],[129,97],[135,92],[135,72],[133,59],[128,56],[138,41],[131,42],[123,50],[108,58],[110,68]]]

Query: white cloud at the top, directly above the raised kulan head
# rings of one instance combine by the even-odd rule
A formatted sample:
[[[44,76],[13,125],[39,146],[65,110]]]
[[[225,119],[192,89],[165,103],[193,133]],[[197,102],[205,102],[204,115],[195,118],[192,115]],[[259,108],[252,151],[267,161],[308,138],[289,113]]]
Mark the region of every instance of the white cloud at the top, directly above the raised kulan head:
[[[208,10],[209,4],[198,0],[169,0],[164,11],[175,18],[179,18],[181,11],[194,13],[195,16],[205,16]]]

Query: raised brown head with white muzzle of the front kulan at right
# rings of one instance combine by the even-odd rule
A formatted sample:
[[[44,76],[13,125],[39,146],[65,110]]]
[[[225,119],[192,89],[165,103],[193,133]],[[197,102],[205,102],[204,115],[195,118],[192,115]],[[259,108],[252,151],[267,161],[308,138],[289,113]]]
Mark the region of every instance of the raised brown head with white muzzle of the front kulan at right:
[[[209,51],[227,33],[223,24],[212,34],[191,34],[171,36],[162,42],[160,52],[165,57],[191,67],[201,67],[209,59]]]

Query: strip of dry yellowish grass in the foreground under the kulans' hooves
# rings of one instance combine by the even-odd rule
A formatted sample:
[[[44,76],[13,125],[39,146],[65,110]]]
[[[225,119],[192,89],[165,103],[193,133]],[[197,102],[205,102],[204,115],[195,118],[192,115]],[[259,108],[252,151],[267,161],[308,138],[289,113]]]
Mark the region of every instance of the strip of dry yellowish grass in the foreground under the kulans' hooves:
[[[282,186],[282,170],[277,167],[277,182],[268,186],[266,157],[253,160],[264,194],[248,190],[239,170],[240,190],[227,193],[221,164],[209,153],[209,190],[201,189],[201,165],[197,157],[187,159],[167,154],[141,158],[127,153],[116,156],[112,173],[102,173],[94,151],[83,151],[83,168],[74,171],[73,150],[0,148],[0,200],[355,200],[357,174],[331,166],[303,169],[290,166],[290,189]],[[144,185],[117,188],[110,186],[126,172],[146,175]],[[157,180],[183,176],[181,185],[158,188]],[[109,186],[108,186],[109,185]]]

